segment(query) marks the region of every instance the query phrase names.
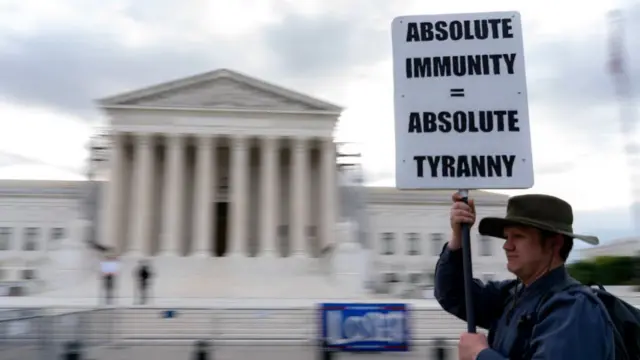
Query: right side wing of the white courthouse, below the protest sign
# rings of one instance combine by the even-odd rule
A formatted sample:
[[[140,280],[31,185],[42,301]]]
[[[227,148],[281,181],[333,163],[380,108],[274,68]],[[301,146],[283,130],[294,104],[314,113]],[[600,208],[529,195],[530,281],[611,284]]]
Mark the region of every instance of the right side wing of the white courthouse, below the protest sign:
[[[411,293],[433,285],[436,262],[449,240],[449,191],[401,191],[395,188],[368,188],[373,251],[373,268],[379,279],[379,292]],[[504,216],[507,197],[491,192],[473,192],[478,217]],[[474,276],[503,280],[506,270],[504,241],[471,234]],[[394,285],[396,284],[396,285]],[[421,291],[416,291],[422,294]],[[409,295],[408,295],[409,296]],[[415,296],[415,295],[413,295]]]

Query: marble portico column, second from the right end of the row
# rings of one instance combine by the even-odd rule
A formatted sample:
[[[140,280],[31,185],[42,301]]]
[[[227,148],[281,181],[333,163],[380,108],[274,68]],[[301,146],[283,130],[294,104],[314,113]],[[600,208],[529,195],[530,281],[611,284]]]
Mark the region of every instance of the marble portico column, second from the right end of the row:
[[[291,167],[291,256],[304,257],[307,248],[307,223],[309,214],[308,140],[294,138],[292,147],[293,164]]]

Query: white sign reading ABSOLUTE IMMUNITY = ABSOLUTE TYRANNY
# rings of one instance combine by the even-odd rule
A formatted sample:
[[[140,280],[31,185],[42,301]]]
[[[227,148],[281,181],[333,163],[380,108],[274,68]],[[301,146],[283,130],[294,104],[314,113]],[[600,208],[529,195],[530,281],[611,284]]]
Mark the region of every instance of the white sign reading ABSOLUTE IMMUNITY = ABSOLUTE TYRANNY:
[[[517,12],[392,23],[396,187],[533,186]]]

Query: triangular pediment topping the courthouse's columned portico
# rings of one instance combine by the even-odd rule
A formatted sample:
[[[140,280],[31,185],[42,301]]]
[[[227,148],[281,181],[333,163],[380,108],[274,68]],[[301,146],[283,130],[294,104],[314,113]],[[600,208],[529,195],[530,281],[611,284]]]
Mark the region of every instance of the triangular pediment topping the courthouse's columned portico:
[[[337,105],[226,69],[116,95],[99,103],[105,108],[342,111]]]

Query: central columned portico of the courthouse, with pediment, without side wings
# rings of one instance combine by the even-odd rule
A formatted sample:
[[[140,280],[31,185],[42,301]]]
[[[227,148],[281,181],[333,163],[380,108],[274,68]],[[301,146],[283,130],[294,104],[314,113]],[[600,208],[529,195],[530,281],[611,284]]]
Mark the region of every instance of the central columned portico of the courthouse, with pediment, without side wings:
[[[117,253],[307,257],[332,241],[339,106],[224,69],[100,106],[100,242]]]

